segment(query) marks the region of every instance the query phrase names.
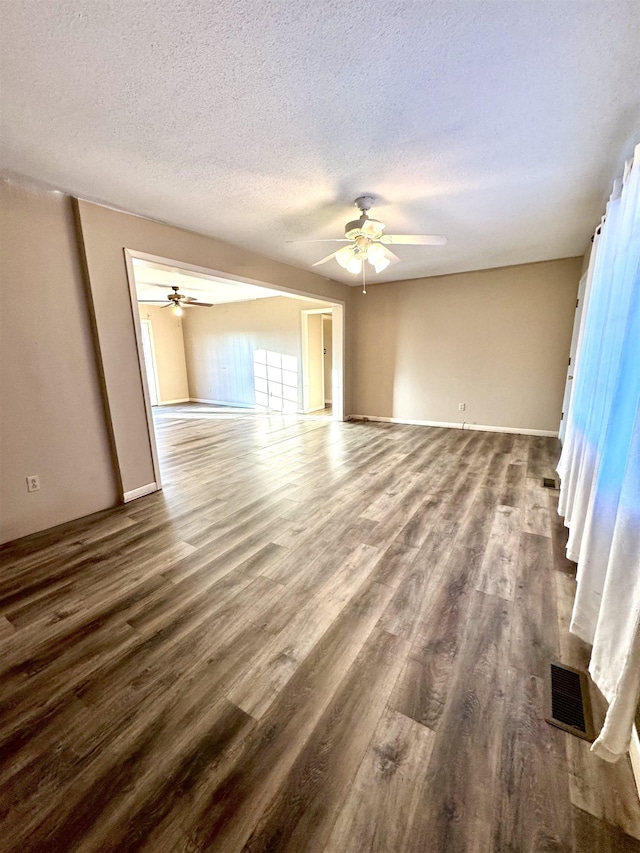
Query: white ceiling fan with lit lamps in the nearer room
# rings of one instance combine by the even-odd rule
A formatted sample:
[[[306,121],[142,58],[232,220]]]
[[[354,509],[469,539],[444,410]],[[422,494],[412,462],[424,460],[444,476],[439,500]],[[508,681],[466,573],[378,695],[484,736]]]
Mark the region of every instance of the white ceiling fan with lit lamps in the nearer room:
[[[341,267],[353,275],[362,273],[362,292],[367,292],[366,266],[368,261],[377,273],[385,270],[389,264],[397,263],[400,258],[387,246],[444,246],[446,237],[437,234],[383,234],[385,225],[377,219],[371,219],[368,215],[373,207],[373,196],[363,195],[354,202],[360,211],[360,218],[347,222],[344,229],[344,238],[336,240],[308,240],[310,243],[349,243],[336,252],[327,255],[313,264],[314,267],[325,264],[332,258]]]

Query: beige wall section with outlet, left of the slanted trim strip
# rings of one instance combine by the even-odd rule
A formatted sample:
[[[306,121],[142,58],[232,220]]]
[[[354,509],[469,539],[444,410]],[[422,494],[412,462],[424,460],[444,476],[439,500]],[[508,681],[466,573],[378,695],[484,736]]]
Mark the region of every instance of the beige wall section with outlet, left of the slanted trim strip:
[[[71,200],[3,181],[0,209],[5,542],[112,506],[118,488]]]

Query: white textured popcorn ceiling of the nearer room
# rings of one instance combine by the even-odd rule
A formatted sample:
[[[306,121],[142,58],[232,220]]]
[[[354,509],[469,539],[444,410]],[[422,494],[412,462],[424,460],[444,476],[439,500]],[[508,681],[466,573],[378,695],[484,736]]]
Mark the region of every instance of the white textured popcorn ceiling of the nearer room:
[[[365,192],[388,233],[449,238],[380,281],[581,254],[640,138],[638,0],[0,14],[4,172],[299,267],[332,246],[286,241],[342,236]]]

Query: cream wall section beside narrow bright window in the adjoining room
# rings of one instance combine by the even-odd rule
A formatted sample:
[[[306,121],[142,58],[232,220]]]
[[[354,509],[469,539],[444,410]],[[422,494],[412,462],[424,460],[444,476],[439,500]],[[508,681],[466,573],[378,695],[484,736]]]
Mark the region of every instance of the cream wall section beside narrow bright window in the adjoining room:
[[[149,320],[158,377],[158,403],[189,399],[182,320],[173,311],[139,305],[141,320]],[[185,309],[188,310],[188,309]]]

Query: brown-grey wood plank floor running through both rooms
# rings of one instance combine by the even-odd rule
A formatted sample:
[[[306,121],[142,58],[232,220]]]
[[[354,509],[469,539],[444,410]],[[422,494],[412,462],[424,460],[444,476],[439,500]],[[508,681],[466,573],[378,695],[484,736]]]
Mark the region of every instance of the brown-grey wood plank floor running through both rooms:
[[[555,440],[156,420],[162,493],[0,551],[3,853],[640,850],[628,762],[544,722]]]

